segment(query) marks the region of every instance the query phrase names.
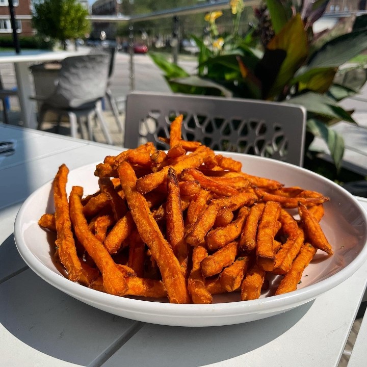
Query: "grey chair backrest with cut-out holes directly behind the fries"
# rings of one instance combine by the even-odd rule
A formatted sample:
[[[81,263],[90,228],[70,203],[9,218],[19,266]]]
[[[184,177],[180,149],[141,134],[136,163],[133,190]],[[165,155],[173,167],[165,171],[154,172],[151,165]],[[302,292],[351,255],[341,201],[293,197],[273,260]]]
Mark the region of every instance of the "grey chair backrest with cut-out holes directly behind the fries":
[[[214,150],[261,155],[303,164],[306,111],[286,103],[186,94],[127,95],[124,145],[134,148],[169,137],[170,123],[183,115],[182,137]]]

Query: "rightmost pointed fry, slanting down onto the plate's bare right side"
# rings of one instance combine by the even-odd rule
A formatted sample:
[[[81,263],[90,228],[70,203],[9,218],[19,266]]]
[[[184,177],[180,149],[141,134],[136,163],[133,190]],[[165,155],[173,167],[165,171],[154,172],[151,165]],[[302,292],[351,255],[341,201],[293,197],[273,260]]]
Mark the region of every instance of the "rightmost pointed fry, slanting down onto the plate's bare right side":
[[[308,212],[306,206],[299,203],[298,211],[306,240],[309,241],[312,246],[325,251],[327,254],[333,254],[331,245],[321,229],[319,222]]]

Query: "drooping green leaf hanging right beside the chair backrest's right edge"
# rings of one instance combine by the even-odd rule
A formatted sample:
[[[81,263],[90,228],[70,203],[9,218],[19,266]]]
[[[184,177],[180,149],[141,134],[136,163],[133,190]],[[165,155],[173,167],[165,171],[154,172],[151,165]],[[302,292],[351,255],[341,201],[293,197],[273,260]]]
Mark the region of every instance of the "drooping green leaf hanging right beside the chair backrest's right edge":
[[[339,170],[342,166],[344,155],[343,136],[318,119],[307,119],[307,130],[313,135],[321,137],[326,142],[335,167]]]

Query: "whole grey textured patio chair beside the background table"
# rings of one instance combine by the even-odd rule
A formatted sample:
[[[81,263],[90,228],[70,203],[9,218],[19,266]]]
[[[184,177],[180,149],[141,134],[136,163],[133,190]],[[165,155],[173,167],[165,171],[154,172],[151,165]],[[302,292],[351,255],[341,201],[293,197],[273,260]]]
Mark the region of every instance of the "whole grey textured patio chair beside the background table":
[[[113,144],[100,107],[100,100],[107,90],[109,67],[110,56],[105,53],[64,59],[53,94],[31,97],[42,102],[38,129],[42,127],[46,112],[54,111],[58,115],[58,125],[63,115],[69,117],[71,136],[76,137],[77,123],[86,117],[89,139],[92,140],[92,117],[96,116],[107,143]]]

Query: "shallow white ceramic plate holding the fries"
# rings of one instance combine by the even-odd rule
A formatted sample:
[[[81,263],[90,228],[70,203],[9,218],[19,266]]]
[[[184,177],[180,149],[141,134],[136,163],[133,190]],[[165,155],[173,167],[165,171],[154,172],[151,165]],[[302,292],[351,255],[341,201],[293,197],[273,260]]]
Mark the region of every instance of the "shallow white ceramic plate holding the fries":
[[[225,153],[223,153],[225,154]],[[243,163],[243,171],[279,180],[286,186],[301,186],[330,197],[321,225],[334,249],[328,257],[319,251],[306,268],[299,289],[279,296],[261,295],[239,302],[238,294],[215,298],[211,305],[169,304],[117,297],[67,280],[56,268],[52,256],[55,244],[37,221],[53,213],[51,182],[34,192],[22,205],[15,220],[14,237],[19,253],[35,273],[59,290],[101,310],[133,320],[173,326],[217,326],[263,319],[304,304],[350,277],[367,258],[367,216],[361,205],[332,181],[297,166],[258,156],[226,154]],[[83,186],[85,195],[98,188],[95,164],[69,173],[67,190]],[[55,174],[57,167],[55,167]],[[52,236],[51,236],[52,237]],[[269,292],[274,290],[275,285]]]

